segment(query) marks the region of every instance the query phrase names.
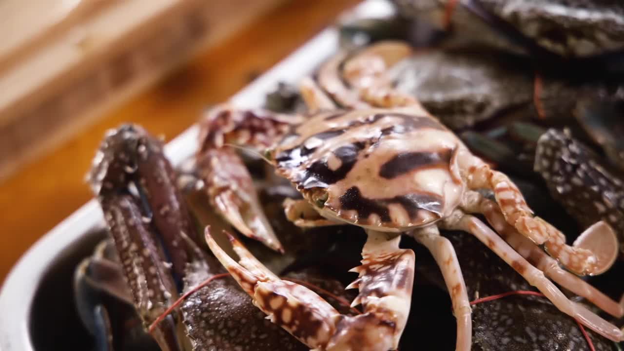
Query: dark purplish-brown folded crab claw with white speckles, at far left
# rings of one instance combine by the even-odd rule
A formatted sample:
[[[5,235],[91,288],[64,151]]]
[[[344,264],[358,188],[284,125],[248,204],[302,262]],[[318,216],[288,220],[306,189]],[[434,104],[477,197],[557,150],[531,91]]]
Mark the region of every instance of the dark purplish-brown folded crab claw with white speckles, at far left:
[[[172,166],[157,139],[125,124],[107,133],[88,179],[147,329],[178,298],[187,264],[202,259]],[[175,312],[152,332],[163,350],[188,349],[181,322]]]

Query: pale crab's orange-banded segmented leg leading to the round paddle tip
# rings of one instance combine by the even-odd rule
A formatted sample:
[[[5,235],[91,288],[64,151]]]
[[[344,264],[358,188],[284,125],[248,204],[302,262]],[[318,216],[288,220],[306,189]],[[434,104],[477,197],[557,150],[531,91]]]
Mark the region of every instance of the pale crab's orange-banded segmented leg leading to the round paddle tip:
[[[467,152],[467,151],[466,151]],[[548,254],[559,260],[565,267],[576,274],[599,274],[610,266],[609,262],[599,262],[592,251],[582,247],[573,247],[565,244],[565,235],[551,224],[534,216],[527,205],[518,187],[507,175],[494,171],[485,162],[477,157],[464,154],[460,159],[470,159],[462,169],[467,169],[466,179],[470,189],[487,188],[494,190],[494,197],[507,223],[514,226],[522,235],[529,238],[536,245],[544,244]],[[613,232],[595,230],[585,233],[602,240],[604,235],[614,235]],[[587,240],[586,242],[590,242]],[[611,262],[612,263],[612,262]]]

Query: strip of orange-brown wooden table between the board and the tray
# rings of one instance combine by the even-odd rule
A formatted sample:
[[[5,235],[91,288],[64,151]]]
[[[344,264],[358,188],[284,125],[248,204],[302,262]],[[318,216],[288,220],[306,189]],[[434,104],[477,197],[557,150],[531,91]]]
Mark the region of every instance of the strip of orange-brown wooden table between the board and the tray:
[[[43,234],[87,202],[84,182],[104,132],[135,122],[168,141],[331,24],[358,0],[293,0],[72,137],[0,184],[0,281]]]

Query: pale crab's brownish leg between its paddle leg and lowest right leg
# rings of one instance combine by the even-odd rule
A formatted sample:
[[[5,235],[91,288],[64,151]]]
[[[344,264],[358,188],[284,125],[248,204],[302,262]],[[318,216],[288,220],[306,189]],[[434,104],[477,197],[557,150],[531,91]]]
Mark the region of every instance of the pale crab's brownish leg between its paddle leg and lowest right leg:
[[[479,195],[480,196],[480,195]],[[610,299],[592,285],[580,279],[576,275],[563,270],[557,260],[545,254],[539,247],[535,246],[531,240],[524,237],[505,221],[499,207],[494,201],[489,199],[480,200],[480,211],[485,215],[487,221],[494,227],[496,232],[514,248],[530,264],[544,272],[550,279],[557,282],[562,287],[572,291],[574,294],[585,297],[585,299],[598,306],[613,317],[620,318],[624,315],[624,305]]]

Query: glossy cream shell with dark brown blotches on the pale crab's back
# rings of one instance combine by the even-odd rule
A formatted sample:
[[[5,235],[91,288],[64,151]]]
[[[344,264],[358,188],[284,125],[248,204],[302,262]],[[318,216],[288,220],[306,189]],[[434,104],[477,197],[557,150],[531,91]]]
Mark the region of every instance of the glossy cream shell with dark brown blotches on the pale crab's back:
[[[397,232],[431,224],[459,204],[458,144],[422,112],[361,109],[316,114],[271,154],[278,174],[321,215]]]

